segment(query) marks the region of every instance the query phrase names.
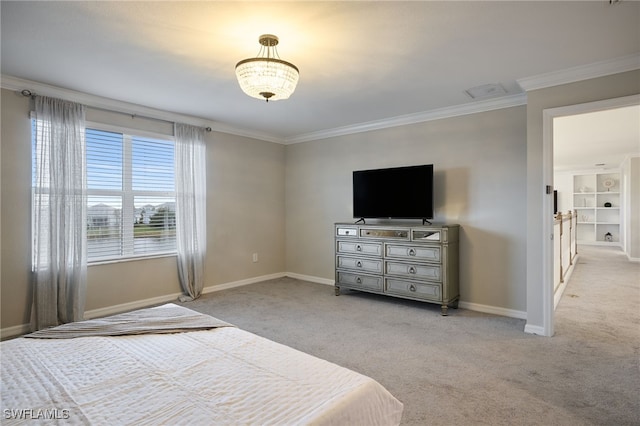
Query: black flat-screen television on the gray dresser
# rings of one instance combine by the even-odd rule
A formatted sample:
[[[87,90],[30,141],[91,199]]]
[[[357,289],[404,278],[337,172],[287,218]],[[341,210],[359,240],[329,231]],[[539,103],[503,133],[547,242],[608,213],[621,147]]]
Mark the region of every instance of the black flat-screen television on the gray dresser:
[[[433,164],[354,171],[353,217],[433,219]]]

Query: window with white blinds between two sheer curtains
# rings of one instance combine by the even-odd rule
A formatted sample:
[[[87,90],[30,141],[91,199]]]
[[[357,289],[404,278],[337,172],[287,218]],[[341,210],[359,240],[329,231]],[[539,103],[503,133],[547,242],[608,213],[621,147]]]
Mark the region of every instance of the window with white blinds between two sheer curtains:
[[[87,127],[86,144],[88,261],[175,253],[173,140]]]

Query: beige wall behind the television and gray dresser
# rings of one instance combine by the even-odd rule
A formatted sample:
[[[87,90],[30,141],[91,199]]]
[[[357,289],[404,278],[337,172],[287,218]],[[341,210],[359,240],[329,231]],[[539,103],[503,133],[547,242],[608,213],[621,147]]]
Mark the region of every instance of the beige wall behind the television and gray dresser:
[[[435,221],[462,226],[461,302],[524,312],[524,106],[288,146],[287,271],[333,279],[353,170],[416,164],[434,164]]]

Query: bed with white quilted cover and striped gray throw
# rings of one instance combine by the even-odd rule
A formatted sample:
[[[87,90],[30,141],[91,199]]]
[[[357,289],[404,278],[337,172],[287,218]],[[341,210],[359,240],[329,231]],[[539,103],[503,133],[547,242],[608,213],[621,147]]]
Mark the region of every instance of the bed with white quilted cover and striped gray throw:
[[[393,425],[349,369],[175,304],[2,342],[2,424]]]

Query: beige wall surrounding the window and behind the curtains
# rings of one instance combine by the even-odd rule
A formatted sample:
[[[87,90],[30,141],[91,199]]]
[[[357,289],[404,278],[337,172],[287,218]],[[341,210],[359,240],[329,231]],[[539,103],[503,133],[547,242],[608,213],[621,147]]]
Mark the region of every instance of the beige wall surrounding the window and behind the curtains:
[[[2,90],[0,273],[2,328],[29,322],[31,128],[29,100]],[[171,126],[89,111],[88,120],[167,133]],[[207,133],[208,253],[205,286],[281,273],[285,147]],[[253,263],[252,253],[259,254]],[[174,256],[90,266],[87,310],[180,292]]]

